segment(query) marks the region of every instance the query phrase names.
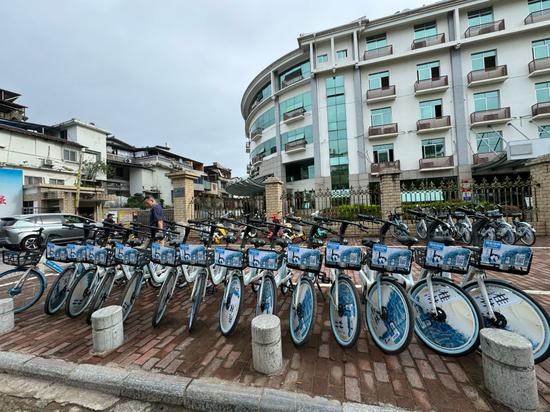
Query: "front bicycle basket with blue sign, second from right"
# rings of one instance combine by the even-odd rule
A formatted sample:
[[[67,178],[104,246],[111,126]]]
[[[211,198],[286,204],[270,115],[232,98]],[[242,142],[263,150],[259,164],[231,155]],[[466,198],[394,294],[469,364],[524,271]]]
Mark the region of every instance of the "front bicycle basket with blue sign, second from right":
[[[460,246],[446,246],[439,242],[428,242],[424,250],[426,269],[436,269],[444,272],[467,273],[470,267],[471,250]]]

